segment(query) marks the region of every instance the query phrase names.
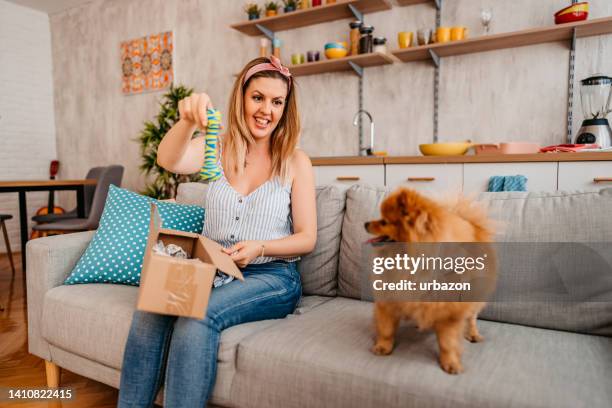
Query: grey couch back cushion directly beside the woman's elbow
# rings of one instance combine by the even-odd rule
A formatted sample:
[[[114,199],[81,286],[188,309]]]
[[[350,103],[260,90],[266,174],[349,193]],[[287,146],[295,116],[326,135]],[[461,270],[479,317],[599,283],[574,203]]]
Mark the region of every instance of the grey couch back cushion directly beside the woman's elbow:
[[[317,244],[298,266],[306,295],[335,296],[338,253],[345,192],[336,186],[317,186]]]

